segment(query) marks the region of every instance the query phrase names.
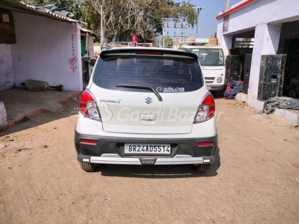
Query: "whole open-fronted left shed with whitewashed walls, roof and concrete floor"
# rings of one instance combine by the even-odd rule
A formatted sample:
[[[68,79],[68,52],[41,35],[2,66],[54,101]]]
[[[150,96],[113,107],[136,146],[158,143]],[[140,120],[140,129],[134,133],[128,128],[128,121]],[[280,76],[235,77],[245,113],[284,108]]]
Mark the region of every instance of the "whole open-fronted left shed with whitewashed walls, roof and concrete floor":
[[[83,90],[81,23],[0,0],[0,129]],[[64,91],[26,91],[27,79],[63,85]]]

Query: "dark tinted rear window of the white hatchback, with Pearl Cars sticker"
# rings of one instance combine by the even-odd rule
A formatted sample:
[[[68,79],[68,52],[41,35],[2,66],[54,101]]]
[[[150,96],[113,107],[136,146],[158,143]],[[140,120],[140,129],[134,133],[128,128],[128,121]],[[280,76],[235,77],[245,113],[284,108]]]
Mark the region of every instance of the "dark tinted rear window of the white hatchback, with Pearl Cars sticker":
[[[144,55],[99,57],[93,82],[102,88],[146,92],[117,85],[140,85],[161,93],[190,92],[203,86],[197,60]]]

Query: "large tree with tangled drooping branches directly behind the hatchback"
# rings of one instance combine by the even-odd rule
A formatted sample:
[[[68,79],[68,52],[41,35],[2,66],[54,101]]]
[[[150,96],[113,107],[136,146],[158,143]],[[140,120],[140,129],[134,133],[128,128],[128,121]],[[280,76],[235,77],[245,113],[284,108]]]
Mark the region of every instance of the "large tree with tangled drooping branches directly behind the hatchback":
[[[188,18],[193,27],[196,13],[192,4],[174,0],[84,0],[98,15],[103,4],[104,31],[108,41],[129,41],[133,30],[141,42],[155,42],[162,33],[163,17]]]

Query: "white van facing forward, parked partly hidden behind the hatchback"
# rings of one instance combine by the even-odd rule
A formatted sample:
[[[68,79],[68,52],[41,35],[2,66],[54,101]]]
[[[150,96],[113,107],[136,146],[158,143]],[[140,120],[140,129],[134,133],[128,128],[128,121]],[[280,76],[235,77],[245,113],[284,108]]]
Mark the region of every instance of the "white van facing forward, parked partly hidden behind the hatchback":
[[[214,96],[224,89],[225,85],[225,57],[219,46],[182,45],[197,54],[203,76],[209,91]]]

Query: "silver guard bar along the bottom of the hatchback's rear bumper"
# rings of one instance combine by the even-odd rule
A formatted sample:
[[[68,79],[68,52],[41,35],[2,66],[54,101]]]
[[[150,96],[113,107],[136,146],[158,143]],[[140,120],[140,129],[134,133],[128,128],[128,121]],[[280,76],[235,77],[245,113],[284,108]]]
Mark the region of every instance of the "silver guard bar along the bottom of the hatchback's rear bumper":
[[[127,165],[181,165],[181,164],[209,164],[215,162],[214,156],[183,157],[183,158],[122,158],[103,156],[78,155],[80,163],[127,164]]]

